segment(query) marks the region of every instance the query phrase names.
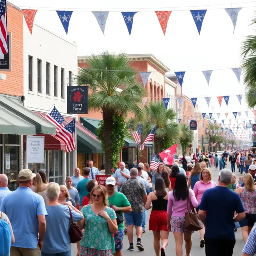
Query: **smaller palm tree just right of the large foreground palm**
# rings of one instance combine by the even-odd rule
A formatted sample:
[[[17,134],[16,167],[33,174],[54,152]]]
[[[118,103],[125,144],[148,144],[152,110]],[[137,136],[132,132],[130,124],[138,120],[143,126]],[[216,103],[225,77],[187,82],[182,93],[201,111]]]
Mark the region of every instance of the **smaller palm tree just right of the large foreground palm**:
[[[143,136],[146,137],[156,125],[155,147],[156,153],[160,153],[174,144],[179,138],[179,124],[174,122],[176,112],[174,108],[166,109],[163,101],[149,102],[145,107],[146,120],[143,124]]]

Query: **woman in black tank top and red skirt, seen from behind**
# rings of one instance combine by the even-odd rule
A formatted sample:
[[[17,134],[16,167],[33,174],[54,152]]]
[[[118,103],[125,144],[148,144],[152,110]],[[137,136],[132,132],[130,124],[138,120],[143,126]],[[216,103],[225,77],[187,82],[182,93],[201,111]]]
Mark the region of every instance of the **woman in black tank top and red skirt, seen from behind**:
[[[168,245],[169,231],[167,229],[167,204],[169,191],[165,190],[163,178],[158,177],[155,181],[155,190],[148,194],[145,209],[152,211],[149,218],[149,230],[153,231],[154,249],[156,256],[165,256],[165,247]],[[160,239],[162,247],[160,248]]]

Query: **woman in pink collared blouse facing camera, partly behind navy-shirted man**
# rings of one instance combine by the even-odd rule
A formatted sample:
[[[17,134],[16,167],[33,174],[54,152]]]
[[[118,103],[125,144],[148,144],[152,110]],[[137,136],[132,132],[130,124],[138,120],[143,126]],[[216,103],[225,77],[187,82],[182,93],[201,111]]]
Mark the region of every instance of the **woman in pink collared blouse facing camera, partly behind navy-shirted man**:
[[[201,170],[200,179],[198,182],[196,182],[193,188],[196,199],[198,201],[198,207],[196,208],[197,212],[199,210],[200,202],[205,190],[208,188],[214,188],[214,187],[216,187],[216,183],[211,180],[211,172],[209,168],[203,168]],[[199,230],[199,233],[201,236],[200,247],[203,248],[205,246],[205,240],[204,240],[205,227]]]

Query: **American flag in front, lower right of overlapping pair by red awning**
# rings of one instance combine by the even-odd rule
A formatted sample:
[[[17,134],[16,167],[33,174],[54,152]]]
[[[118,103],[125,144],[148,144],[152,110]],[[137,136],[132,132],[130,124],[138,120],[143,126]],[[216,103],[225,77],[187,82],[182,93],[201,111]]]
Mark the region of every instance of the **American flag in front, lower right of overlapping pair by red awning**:
[[[76,149],[76,119],[62,128],[55,136],[61,139],[66,144],[66,152],[71,152]]]

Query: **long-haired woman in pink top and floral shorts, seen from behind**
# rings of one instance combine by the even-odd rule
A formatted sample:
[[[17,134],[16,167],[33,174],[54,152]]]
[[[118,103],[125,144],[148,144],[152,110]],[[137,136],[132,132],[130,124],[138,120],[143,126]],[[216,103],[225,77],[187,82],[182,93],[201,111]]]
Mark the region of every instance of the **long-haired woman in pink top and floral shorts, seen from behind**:
[[[176,175],[175,187],[169,193],[167,206],[167,228],[169,231],[173,232],[177,256],[183,255],[183,233],[187,256],[189,256],[192,247],[191,234],[194,231],[190,231],[185,228],[185,213],[187,212],[188,197],[193,207],[196,208],[198,206],[198,202],[194,191],[187,187],[187,179],[185,175],[178,173]],[[192,209],[191,204],[188,204],[189,211]]]

